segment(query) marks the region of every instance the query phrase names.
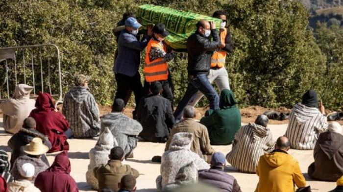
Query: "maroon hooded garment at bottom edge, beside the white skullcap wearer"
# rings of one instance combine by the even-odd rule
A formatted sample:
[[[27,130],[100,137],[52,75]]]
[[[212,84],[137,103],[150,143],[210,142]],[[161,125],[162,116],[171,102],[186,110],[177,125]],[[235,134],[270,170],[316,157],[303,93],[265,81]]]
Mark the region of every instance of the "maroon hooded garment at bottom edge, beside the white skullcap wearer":
[[[50,168],[37,175],[34,185],[41,192],[78,192],[75,180],[69,174],[70,171],[67,151],[63,151],[55,157]]]

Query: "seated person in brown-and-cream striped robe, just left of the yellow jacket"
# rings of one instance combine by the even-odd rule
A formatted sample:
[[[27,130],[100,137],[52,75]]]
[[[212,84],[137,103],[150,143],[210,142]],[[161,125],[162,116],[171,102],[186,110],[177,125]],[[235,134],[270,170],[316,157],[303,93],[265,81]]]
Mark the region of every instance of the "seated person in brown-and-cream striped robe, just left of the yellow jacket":
[[[260,115],[255,122],[243,125],[236,133],[226,160],[240,172],[254,173],[260,156],[273,149],[268,118]]]

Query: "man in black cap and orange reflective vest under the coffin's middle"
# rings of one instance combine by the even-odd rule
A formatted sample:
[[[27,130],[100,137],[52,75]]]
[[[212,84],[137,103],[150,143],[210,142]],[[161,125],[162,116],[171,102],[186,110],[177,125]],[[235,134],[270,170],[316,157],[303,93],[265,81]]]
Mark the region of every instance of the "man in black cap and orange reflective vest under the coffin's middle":
[[[153,36],[147,44],[145,58],[145,89],[148,90],[152,82],[159,81],[162,84],[163,96],[171,103],[173,102],[172,87],[168,80],[168,62],[171,61],[175,53],[167,51],[164,39],[169,35],[164,24],[156,24],[153,28]],[[170,79],[172,80],[172,79]]]

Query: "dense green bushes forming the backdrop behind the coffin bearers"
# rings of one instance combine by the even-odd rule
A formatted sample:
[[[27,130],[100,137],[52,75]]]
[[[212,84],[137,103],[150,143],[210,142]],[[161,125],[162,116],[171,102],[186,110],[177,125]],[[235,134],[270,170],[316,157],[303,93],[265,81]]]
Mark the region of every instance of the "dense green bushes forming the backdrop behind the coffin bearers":
[[[73,74],[85,73],[92,77],[91,92],[97,101],[110,104],[116,91],[112,67],[117,45],[112,31],[124,12],[136,12],[145,3],[204,15],[217,9],[227,12],[234,51],[227,56],[226,69],[241,105],[292,107],[312,88],[326,105],[339,107],[342,86],[335,83],[342,85],[337,71],[342,63],[327,68],[322,51],[329,54],[324,50],[330,47],[329,39],[314,39],[307,29],[306,8],[293,0],[1,0],[0,47],[56,44],[64,93],[73,85]],[[342,43],[335,46],[342,48]],[[178,54],[170,62],[175,103],[187,86],[185,57]],[[143,64],[144,54],[141,58]],[[332,78],[327,78],[328,72]],[[328,85],[335,91],[328,94]],[[203,99],[200,106],[205,103]]]

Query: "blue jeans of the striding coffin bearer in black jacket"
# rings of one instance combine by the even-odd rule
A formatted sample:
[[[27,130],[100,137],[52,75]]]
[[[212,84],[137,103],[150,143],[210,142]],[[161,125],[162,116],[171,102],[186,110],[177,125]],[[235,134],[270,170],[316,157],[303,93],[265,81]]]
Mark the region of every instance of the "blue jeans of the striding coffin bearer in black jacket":
[[[219,108],[219,96],[208,81],[207,75],[198,74],[194,78],[190,78],[186,93],[175,110],[175,120],[181,120],[184,108],[194,99],[197,91],[200,91],[210,101],[210,109],[215,110]]]

